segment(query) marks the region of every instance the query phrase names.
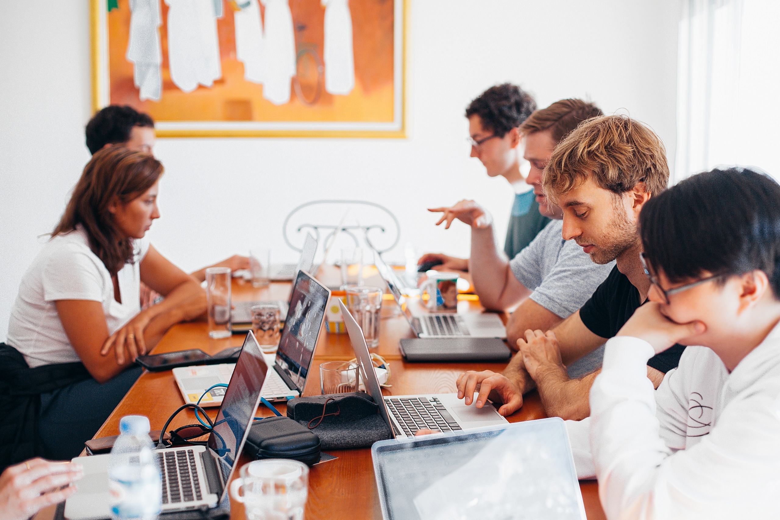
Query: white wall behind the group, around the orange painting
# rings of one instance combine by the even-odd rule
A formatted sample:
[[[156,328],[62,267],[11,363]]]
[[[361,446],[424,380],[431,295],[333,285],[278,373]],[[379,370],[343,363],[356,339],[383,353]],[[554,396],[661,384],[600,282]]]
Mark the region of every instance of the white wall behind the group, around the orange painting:
[[[314,0],[312,0],[314,1]],[[418,250],[467,255],[464,225],[434,228],[425,207],[468,197],[505,232],[512,191],[470,159],[463,109],[495,83],[521,84],[541,107],[588,97],[647,122],[674,157],[677,0],[413,0],[407,140],[164,139],[162,218],[154,245],[192,270],[268,240],[296,204],[385,204]],[[89,158],[89,12],[83,0],[0,2],[0,338],[20,278]],[[267,221],[267,230],[258,229]],[[247,239],[246,237],[251,237]],[[503,239],[503,237],[501,238]]]

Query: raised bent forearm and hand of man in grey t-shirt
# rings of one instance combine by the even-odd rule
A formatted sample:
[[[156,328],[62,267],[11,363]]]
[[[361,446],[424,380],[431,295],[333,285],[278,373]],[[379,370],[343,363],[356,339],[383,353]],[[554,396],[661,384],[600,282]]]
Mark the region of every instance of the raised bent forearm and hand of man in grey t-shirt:
[[[493,218],[487,210],[473,200],[461,200],[453,207],[437,207],[429,211],[444,212],[436,225],[446,221],[445,229],[449,229],[456,218],[471,226],[469,272],[474,292],[485,309],[506,310],[530,295],[530,290],[512,274],[504,253],[496,249]]]

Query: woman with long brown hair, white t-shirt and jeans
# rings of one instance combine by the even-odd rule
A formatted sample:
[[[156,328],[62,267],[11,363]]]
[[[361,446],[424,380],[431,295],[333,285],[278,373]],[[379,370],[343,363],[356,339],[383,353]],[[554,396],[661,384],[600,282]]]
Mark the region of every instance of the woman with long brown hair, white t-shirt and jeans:
[[[149,154],[122,147],[94,154],[51,240],[22,278],[8,345],[30,370],[80,362],[88,372],[41,392],[35,455],[78,455],[140,374],[140,367],[129,368],[136,356],[206,308],[197,281],[144,236],[160,216],[162,172]],[[141,310],[140,281],[165,300]]]

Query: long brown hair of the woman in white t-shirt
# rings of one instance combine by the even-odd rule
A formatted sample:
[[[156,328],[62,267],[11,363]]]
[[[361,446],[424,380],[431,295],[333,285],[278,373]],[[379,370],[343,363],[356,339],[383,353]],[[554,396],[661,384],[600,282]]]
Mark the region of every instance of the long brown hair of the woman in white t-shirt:
[[[84,167],[51,236],[71,232],[76,225],[82,225],[90,249],[113,276],[133,261],[133,242],[119,231],[108,206],[114,200],[126,204],[141,196],[162,172],[162,164],[150,154],[122,147],[98,150]]]

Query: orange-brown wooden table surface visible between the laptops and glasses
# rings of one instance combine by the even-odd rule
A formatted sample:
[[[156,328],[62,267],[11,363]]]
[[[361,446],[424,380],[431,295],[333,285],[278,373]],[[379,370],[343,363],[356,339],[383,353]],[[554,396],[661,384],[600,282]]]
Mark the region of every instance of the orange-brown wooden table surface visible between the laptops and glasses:
[[[327,275],[326,285],[336,285]],[[334,282],[330,284],[329,282]],[[286,300],[289,298],[291,285],[289,283],[272,283],[268,288],[254,288],[241,279],[233,281],[233,299],[235,301],[249,300]],[[466,296],[467,298],[467,296]],[[476,299],[462,299],[460,306],[468,306],[473,312],[480,312],[482,307]],[[395,302],[385,300],[383,313],[392,314]],[[505,317],[502,317],[505,320]],[[400,314],[388,317],[381,322],[381,339],[374,352],[384,357],[391,366],[391,377],[388,381],[392,388],[385,394],[427,394],[447,393],[456,391],[455,382],[460,373],[466,370],[494,370],[500,372],[506,363],[405,363],[399,352],[399,339],[412,338],[413,334],[404,317]],[[208,337],[207,325],[204,322],[178,324],[170,329],[153,353],[172,352],[186,348],[200,348],[209,354],[219,352],[223,348],[243,344],[243,334],[235,334],[232,338],[214,340]],[[332,359],[353,359],[354,353],[346,334],[328,334],[322,331],[317,349],[314,352],[314,364],[307,380],[304,395],[316,395],[320,392],[320,371],[317,366],[321,362]],[[97,437],[119,434],[119,419],[128,415],[144,415],[149,417],[152,430],[160,430],[165,420],[184,401],[179,394],[179,388],[170,371],[150,373],[144,372],[136,384],[130,388],[125,398],[119,403],[105,424],[95,434]],[[277,404],[276,408],[285,413],[285,405]],[[217,409],[211,409],[212,419]],[[195,423],[195,416],[186,410],[174,419],[169,430],[185,424]],[[257,409],[258,416],[271,416],[272,413],[261,405]],[[537,394],[534,392],[524,400],[523,408],[507,419],[510,423],[542,419],[546,417]],[[305,518],[381,518],[381,508],[374,480],[374,466],[371,462],[370,449],[331,450],[329,454],[337,459],[315,465],[309,473],[309,499],[306,504]],[[249,462],[249,458],[239,458],[239,464]],[[237,474],[237,473],[236,473]],[[585,510],[589,520],[605,518],[604,511],[598,500],[598,486],[595,481],[580,482]],[[231,518],[243,520],[242,504],[232,503]]]

